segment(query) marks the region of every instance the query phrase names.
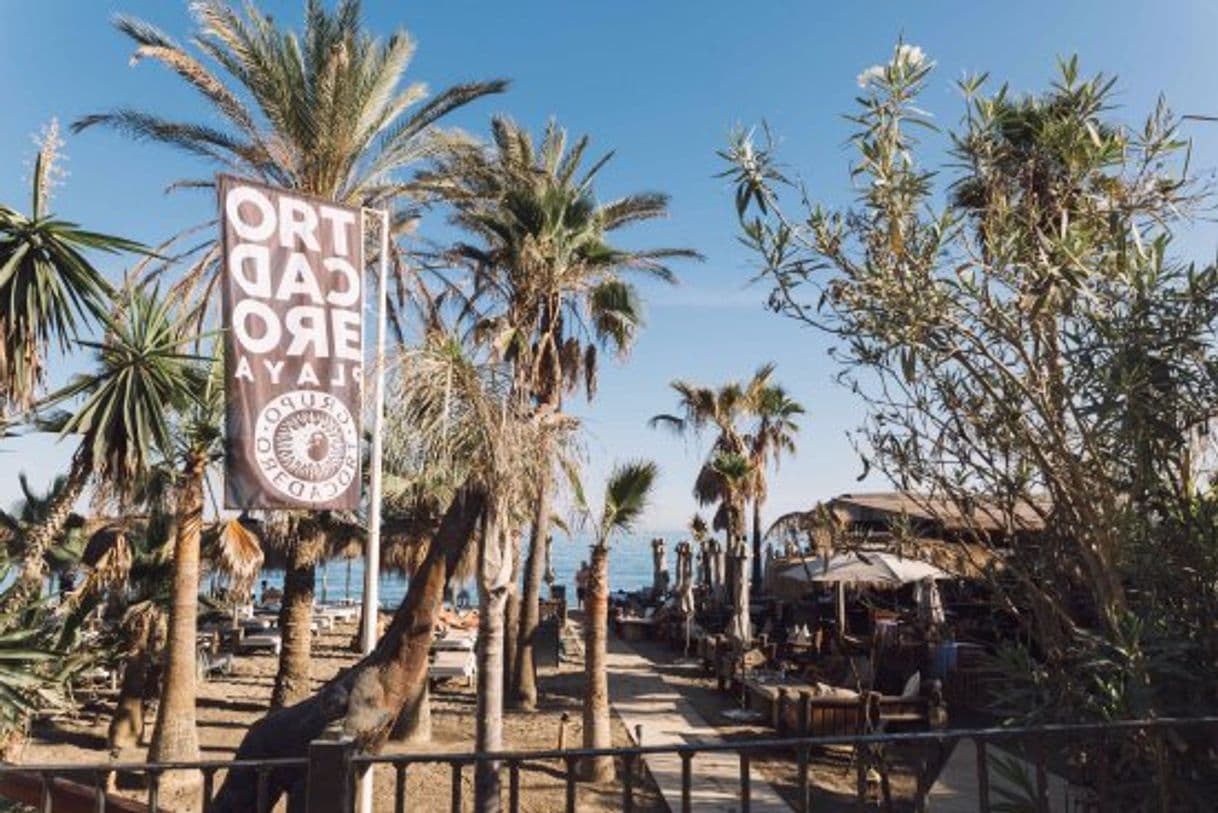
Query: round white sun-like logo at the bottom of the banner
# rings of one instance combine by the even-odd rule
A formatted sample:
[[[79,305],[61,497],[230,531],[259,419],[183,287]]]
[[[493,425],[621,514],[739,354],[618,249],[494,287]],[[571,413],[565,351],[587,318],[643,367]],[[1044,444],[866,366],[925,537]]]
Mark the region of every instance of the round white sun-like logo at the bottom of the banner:
[[[258,468],[292,500],[328,502],[356,478],[356,422],[333,395],[294,390],[276,396],[258,413],[253,438]]]

